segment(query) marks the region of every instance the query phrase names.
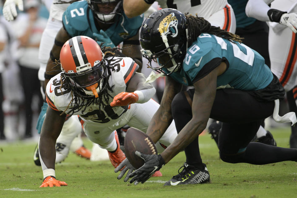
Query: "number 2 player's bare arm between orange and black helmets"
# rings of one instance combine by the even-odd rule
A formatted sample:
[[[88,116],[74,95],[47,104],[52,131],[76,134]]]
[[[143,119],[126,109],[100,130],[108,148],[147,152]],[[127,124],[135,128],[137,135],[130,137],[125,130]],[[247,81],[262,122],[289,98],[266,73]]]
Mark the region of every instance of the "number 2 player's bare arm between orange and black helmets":
[[[123,49],[122,53],[125,56],[132,58],[136,62],[136,64],[139,65],[137,72],[140,73],[142,68],[142,54],[140,52],[141,47],[139,43],[139,34],[136,34],[134,37],[131,37],[123,41],[123,48],[124,47],[129,47],[129,48]]]

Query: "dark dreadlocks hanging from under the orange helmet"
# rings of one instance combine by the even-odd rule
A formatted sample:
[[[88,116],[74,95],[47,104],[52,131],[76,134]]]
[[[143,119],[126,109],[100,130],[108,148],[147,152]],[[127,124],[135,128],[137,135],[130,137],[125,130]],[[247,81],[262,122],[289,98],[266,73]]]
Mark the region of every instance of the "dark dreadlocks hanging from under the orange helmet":
[[[100,48],[101,48],[101,46],[103,44],[104,43],[101,43]],[[114,47],[114,48],[111,48],[111,47],[104,46],[104,47],[101,48],[102,52],[104,53],[104,59],[107,62],[107,65],[106,65],[106,67],[107,67],[106,68],[107,78],[105,79],[107,82],[106,82],[105,89],[103,89],[103,91],[101,91],[98,94],[99,97],[97,97],[97,98],[95,98],[95,97],[91,97],[91,98],[83,97],[81,94],[84,94],[84,93],[81,92],[80,90],[76,90],[75,88],[73,88],[71,86],[70,80],[67,77],[65,77],[63,74],[61,75],[61,79],[60,79],[61,93],[63,93],[62,88],[66,89],[66,90],[70,89],[72,98],[71,98],[71,101],[69,102],[67,108],[60,115],[64,114],[66,112],[66,110],[69,108],[70,105],[73,105],[73,108],[70,110],[70,112],[68,112],[69,115],[73,115],[74,113],[76,113],[76,112],[78,112],[78,111],[80,111],[82,109],[83,109],[82,112],[84,112],[89,105],[97,104],[97,105],[99,105],[99,109],[101,108],[101,105],[102,106],[109,105],[108,103],[106,104],[105,101],[108,101],[110,99],[110,97],[112,97],[108,93],[108,91],[113,92],[112,88],[114,86],[113,85],[112,87],[110,87],[110,85],[108,84],[108,80],[109,80],[109,77],[111,75],[110,69],[112,69],[112,67],[110,67],[109,65],[110,65],[110,62],[113,60],[113,58],[118,56],[118,55],[115,55],[116,54],[115,52],[118,49],[126,49],[126,48],[129,48],[129,47],[125,47],[125,48]],[[108,57],[113,57],[113,58],[110,58],[109,60],[107,60],[106,58],[108,58]],[[59,64],[54,66],[54,67],[60,66],[60,68],[61,68],[61,63],[60,62],[58,62],[58,63]],[[56,64],[57,64],[57,61],[56,61]],[[57,70],[55,70],[55,71],[57,71]],[[60,72],[61,72],[61,70],[60,70]],[[59,83],[59,82],[57,81],[57,83]]]

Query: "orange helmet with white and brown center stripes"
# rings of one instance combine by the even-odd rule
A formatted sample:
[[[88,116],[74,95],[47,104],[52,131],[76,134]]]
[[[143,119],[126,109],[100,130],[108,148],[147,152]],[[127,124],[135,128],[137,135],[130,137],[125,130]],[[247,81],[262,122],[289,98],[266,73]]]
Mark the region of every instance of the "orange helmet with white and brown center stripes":
[[[82,97],[98,97],[107,84],[107,67],[100,46],[90,37],[69,39],[60,52],[62,75]]]

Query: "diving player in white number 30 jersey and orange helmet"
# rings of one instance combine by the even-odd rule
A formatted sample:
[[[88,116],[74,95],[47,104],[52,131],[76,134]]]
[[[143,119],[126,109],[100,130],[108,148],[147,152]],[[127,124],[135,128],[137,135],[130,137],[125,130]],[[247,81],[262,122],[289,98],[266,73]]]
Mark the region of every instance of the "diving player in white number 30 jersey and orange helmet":
[[[116,57],[115,50],[105,47],[101,51],[86,36],[73,37],[63,45],[57,64],[62,72],[46,87],[49,107],[39,140],[41,187],[67,185],[55,179],[54,170],[55,143],[67,114],[78,115],[87,137],[108,150],[114,167],[125,159],[115,130],[127,124],[146,132],[159,107],[151,99],[155,88],[136,72],[139,66],[132,58]],[[161,144],[169,146],[176,136],[172,122],[156,143],[158,152],[164,150]]]

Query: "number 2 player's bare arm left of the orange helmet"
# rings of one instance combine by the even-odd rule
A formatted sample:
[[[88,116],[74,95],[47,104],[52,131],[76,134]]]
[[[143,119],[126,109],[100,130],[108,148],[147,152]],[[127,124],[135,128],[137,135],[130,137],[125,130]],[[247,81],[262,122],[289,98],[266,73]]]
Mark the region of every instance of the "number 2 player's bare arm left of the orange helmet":
[[[54,75],[57,75],[59,72],[50,72],[54,70],[59,70],[59,68],[53,68],[55,65],[53,64],[55,62],[54,59],[59,60],[60,59],[60,51],[62,49],[63,44],[68,41],[71,37],[69,37],[66,30],[62,27],[59,32],[57,33],[57,36],[55,38],[55,44],[53,45],[53,48],[51,50],[51,56],[47,62],[46,65],[46,71],[45,71],[45,83],[44,88],[46,89],[46,85],[49,82],[49,79],[53,77]]]

